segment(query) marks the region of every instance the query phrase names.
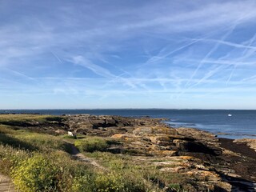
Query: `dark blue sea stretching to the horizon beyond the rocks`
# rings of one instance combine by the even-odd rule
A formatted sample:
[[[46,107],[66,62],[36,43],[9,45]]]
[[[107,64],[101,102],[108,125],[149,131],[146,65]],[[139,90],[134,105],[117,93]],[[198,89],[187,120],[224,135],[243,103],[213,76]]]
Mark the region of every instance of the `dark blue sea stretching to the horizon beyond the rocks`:
[[[206,130],[218,138],[256,138],[256,110],[0,110],[0,114],[94,114],[166,118],[172,127]]]

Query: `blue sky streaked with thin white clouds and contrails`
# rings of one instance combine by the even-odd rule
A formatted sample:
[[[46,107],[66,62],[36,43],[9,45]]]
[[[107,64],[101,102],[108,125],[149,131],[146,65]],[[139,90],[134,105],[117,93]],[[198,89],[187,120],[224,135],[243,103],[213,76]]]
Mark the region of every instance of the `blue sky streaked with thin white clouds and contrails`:
[[[0,0],[0,109],[256,110],[254,0]]]

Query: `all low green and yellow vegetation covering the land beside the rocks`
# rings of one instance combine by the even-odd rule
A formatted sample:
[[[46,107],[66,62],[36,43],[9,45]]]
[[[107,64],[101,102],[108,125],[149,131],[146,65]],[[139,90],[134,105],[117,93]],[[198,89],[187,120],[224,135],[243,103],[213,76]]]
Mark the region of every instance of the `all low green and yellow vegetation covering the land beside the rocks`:
[[[122,146],[112,138],[79,136],[74,139],[16,127],[23,122],[49,121],[61,122],[62,118],[0,115],[0,170],[12,178],[19,191],[182,191],[178,184],[182,178],[178,178],[178,174],[162,175],[150,162],[107,152],[110,146]],[[106,170],[74,159],[70,155],[73,143]],[[170,182],[170,177],[175,180]]]

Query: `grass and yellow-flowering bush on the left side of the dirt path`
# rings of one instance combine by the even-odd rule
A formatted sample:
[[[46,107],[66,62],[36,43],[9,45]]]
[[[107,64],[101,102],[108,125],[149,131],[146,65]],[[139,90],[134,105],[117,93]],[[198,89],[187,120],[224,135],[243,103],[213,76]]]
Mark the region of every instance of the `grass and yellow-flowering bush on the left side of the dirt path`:
[[[0,125],[0,170],[19,191],[73,191],[74,178],[93,170],[67,152],[60,137]]]

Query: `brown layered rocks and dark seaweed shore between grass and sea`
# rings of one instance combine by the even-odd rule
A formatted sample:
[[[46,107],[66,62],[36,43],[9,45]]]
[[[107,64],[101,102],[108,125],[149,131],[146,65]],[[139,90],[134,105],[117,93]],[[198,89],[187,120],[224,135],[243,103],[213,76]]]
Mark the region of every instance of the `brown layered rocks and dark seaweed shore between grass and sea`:
[[[192,128],[172,128],[161,118],[71,115],[66,127],[74,134],[111,137],[122,142],[109,151],[130,153],[139,162],[161,166],[163,174],[173,171],[190,175],[196,182],[191,191],[254,191],[256,152],[251,140],[216,138]],[[248,146],[247,146],[247,143]]]

